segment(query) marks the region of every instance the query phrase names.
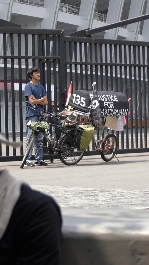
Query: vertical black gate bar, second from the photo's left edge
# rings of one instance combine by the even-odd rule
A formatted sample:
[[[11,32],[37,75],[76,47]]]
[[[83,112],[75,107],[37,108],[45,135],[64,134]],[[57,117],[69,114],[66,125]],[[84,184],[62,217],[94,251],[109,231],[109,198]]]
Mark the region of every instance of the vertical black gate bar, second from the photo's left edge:
[[[11,56],[14,55],[13,34],[10,34]],[[16,141],[15,125],[15,80],[14,80],[14,59],[11,59],[11,108],[12,108],[12,139]],[[13,156],[16,155],[16,148],[13,148]]]

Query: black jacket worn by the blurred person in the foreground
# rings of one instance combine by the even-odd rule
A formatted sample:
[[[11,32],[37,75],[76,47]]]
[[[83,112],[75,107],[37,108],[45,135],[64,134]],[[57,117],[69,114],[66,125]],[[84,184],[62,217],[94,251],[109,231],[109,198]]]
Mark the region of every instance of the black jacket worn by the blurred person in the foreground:
[[[61,213],[52,197],[21,186],[0,240],[0,264],[61,264]]]

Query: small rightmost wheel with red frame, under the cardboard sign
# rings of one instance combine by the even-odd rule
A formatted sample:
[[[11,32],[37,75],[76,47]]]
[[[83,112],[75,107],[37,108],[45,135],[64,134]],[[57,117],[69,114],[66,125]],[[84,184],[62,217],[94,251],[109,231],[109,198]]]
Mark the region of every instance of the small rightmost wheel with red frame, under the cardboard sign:
[[[104,161],[110,161],[117,151],[117,138],[114,134],[109,134],[106,136],[105,143],[102,143],[101,149],[101,157]]]

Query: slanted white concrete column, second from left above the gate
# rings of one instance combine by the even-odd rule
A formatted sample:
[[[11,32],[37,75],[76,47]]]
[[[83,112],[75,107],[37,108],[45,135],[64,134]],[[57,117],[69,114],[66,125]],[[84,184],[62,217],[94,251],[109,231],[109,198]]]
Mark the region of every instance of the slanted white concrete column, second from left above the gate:
[[[41,29],[56,29],[58,11],[61,0],[45,0],[44,7],[47,9],[46,16],[41,22]]]

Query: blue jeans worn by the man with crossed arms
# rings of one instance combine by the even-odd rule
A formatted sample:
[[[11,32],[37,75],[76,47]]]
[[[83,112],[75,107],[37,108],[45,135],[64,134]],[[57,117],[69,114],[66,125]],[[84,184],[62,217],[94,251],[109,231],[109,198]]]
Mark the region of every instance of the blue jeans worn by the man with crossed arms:
[[[39,121],[39,116],[28,117],[26,119],[26,124],[29,121]],[[32,130],[30,130],[28,127],[26,127],[26,144],[25,144],[25,146],[27,145],[27,142],[29,140],[29,136],[30,136],[31,132],[32,132]],[[39,143],[41,143],[41,142],[43,142],[43,134],[42,133],[39,135],[37,142],[35,143],[35,161],[37,161],[37,162],[40,161],[41,159],[43,159],[43,148],[39,149]],[[31,160],[32,153],[33,153],[33,150],[30,151],[27,159]]]

